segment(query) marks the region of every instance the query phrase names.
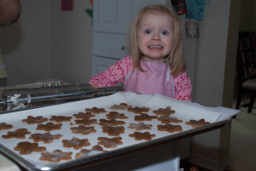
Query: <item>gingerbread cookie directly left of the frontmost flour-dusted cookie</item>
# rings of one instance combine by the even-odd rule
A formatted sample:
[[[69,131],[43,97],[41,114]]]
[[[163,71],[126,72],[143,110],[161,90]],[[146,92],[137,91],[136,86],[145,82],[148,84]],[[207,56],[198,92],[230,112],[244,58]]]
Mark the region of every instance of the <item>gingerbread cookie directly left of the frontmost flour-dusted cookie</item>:
[[[20,155],[27,155],[35,152],[45,151],[46,147],[38,146],[38,143],[31,142],[20,142],[17,146],[15,146],[15,151],[20,151]]]

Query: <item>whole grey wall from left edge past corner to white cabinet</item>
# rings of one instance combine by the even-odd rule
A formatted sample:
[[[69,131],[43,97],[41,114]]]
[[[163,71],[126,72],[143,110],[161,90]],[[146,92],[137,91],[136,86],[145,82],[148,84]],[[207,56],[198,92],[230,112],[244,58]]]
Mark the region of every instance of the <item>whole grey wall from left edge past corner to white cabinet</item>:
[[[84,9],[90,1],[74,1],[72,11],[61,11],[61,1],[20,2],[20,20],[0,28],[8,85],[48,78],[87,83],[92,26]]]

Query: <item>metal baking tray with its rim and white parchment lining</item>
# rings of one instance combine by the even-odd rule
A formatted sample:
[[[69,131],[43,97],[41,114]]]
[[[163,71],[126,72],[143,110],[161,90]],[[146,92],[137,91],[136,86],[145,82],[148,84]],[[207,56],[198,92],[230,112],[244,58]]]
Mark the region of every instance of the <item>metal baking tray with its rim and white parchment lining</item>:
[[[152,112],[153,110],[157,110],[160,107],[166,107],[170,105],[173,110],[176,111],[173,114],[173,117],[177,117],[178,119],[182,119],[183,123],[181,123],[183,127],[182,132],[175,132],[175,133],[167,133],[167,132],[158,132],[156,126],[161,124],[160,121],[156,119],[153,121],[146,121],[143,123],[150,123],[153,125],[152,130],[149,130],[150,134],[156,134],[156,137],[153,140],[134,140],[133,138],[129,137],[128,134],[133,133],[135,130],[128,129],[127,125],[129,123],[137,123],[134,122],[134,116],[137,114],[132,114],[128,111],[118,110],[120,113],[125,113],[125,116],[128,116],[128,119],[125,119],[125,134],[120,134],[123,138],[123,145],[118,145],[114,149],[104,148],[104,152],[99,153],[92,153],[87,157],[83,157],[80,159],[73,159],[70,161],[63,161],[63,162],[40,162],[38,161],[38,157],[40,156],[40,152],[33,152],[33,155],[28,156],[21,156],[19,151],[14,151],[15,145],[19,141],[30,141],[26,135],[26,140],[18,140],[18,139],[10,139],[10,140],[3,140],[0,137],[0,151],[2,151],[7,157],[10,157],[13,161],[18,163],[22,168],[26,168],[27,170],[65,170],[65,169],[78,169],[78,168],[88,168],[93,166],[96,163],[100,162],[107,162],[113,161],[120,157],[125,157],[131,153],[137,151],[147,150],[152,146],[163,145],[166,143],[174,142],[177,140],[182,140],[183,138],[190,137],[195,134],[201,134],[216,128],[221,128],[226,123],[230,123],[232,115],[236,114],[236,111],[232,111],[228,114],[227,117],[221,117],[224,113],[218,112],[193,103],[187,103],[179,100],[172,100],[171,98],[166,98],[160,95],[144,95],[144,94],[134,94],[130,92],[126,93],[117,93],[112,94],[105,97],[99,97],[90,100],[80,100],[75,102],[70,102],[61,105],[51,105],[42,108],[36,108],[26,111],[15,111],[10,112],[7,114],[0,115],[0,123],[8,123],[14,124],[15,128],[0,130],[0,135],[6,134],[8,131],[14,131],[16,128],[27,128],[29,131],[33,133],[45,133],[44,131],[37,131],[36,125],[28,125],[26,123],[21,123],[21,119],[26,118],[27,116],[43,116],[43,117],[51,117],[51,116],[72,116],[74,113],[84,112],[85,108],[91,108],[93,106],[96,107],[103,107],[106,111],[113,111],[110,110],[109,107],[112,105],[118,105],[119,103],[127,103],[132,106],[145,106],[149,107],[150,111],[147,113],[149,115],[154,115]],[[207,115],[206,115],[207,113]],[[204,117],[203,117],[204,116]],[[189,121],[190,119],[199,119],[205,118],[206,121],[210,122],[211,124],[207,126],[203,126],[201,128],[192,128],[189,125],[184,124],[185,122]],[[96,114],[96,119],[106,118],[106,113]],[[219,118],[221,118],[219,120]],[[73,118],[74,119],[74,118]],[[121,120],[121,119],[119,119]],[[74,123],[74,121],[72,120]],[[78,125],[74,124],[70,126],[69,123],[63,123],[66,125],[67,128],[61,128],[61,130],[56,130],[50,132],[51,134],[64,134],[61,140],[68,140],[71,137],[78,137],[78,138],[86,138],[90,140],[90,146],[83,147],[84,149],[91,149],[91,146],[97,144],[97,137],[109,137],[108,134],[102,133],[102,129],[100,126],[96,126],[96,134],[89,134],[89,135],[82,135],[82,134],[68,134],[68,128],[76,127]],[[173,123],[175,124],[175,123]],[[177,123],[179,124],[179,123]],[[69,131],[70,133],[71,131]],[[146,131],[143,131],[146,132]],[[96,136],[95,136],[96,135]],[[61,140],[55,140],[50,145],[47,145],[47,151],[56,150],[58,147],[59,150],[62,151],[73,151],[73,155],[79,150],[74,149],[67,149],[62,147]],[[38,146],[45,146],[44,143],[38,142]],[[74,158],[74,157],[73,157]]]

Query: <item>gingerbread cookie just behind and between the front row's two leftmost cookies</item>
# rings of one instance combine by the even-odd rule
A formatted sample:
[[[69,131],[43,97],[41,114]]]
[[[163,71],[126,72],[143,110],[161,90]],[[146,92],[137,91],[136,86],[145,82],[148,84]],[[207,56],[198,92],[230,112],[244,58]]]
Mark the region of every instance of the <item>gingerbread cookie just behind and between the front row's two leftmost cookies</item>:
[[[62,134],[31,134],[29,139],[34,140],[34,142],[43,141],[44,143],[51,143],[53,140],[58,140],[62,137]]]

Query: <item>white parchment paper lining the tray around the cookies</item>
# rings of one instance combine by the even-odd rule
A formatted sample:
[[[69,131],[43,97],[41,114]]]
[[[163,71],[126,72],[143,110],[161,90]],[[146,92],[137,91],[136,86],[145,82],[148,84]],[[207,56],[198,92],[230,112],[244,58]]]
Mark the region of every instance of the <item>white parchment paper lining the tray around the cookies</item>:
[[[190,119],[199,120],[201,118],[204,118],[207,122],[210,122],[212,124],[222,122],[224,120],[230,119],[233,115],[235,115],[238,111],[233,109],[228,109],[224,107],[206,107],[202,106],[196,103],[190,103],[185,102],[181,100],[173,100],[172,98],[168,98],[166,96],[162,96],[159,94],[154,95],[146,95],[146,94],[135,94],[131,92],[122,92],[122,93],[116,93],[113,95],[100,97],[96,99],[91,100],[81,100],[76,102],[71,102],[67,104],[61,104],[61,105],[51,105],[47,107],[32,109],[32,110],[26,110],[26,111],[16,111],[11,112],[7,114],[0,115],[0,123],[7,123],[7,124],[13,124],[14,128],[11,129],[5,129],[0,130],[0,150],[9,155],[9,157],[13,157],[17,162],[19,162],[22,166],[25,168],[35,168],[39,170],[54,170],[57,168],[62,168],[65,166],[75,165],[79,162],[88,162],[90,160],[93,160],[93,158],[106,156],[108,152],[114,151],[118,152],[121,149],[125,149],[127,146],[132,145],[143,145],[143,143],[146,143],[148,141],[146,140],[135,140],[134,138],[129,137],[129,134],[133,134],[135,129],[127,128],[130,123],[139,123],[134,121],[134,117],[137,116],[137,114],[127,111],[127,110],[111,110],[109,107],[112,105],[119,105],[119,103],[127,103],[128,105],[132,106],[145,106],[149,107],[151,110],[147,113],[151,115],[155,115],[152,111],[157,110],[160,107],[166,108],[166,106],[171,106],[172,110],[175,110],[176,112],[172,114],[171,117],[177,117],[180,120],[183,120],[183,123],[172,123],[176,125],[181,125],[183,128],[183,132],[175,132],[175,133],[167,133],[167,132],[159,132],[157,130],[157,125],[162,124],[160,121],[153,119],[152,121],[143,121],[143,123],[146,124],[152,124],[153,127],[151,130],[143,130],[139,132],[150,132],[150,134],[155,134],[156,136],[151,140],[150,142],[154,142],[157,140],[160,140],[164,137],[170,137],[172,138],[175,134],[184,134],[188,132],[189,130],[195,129],[192,128],[189,125],[186,125],[186,122],[189,122]],[[75,154],[79,152],[81,149],[88,149],[90,150],[92,146],[97,145],[98,137],[109,137],[113,138],[113,136],[108,136],[108,134],[102,133],[102,126],[99,126],[98,124],[93,124],[91,126],[94,126],[96,128],[96,133],[91,133],[88,135],[83,134],[73,134],[71,129],[72,127],[78,127],[78,124],[73,124],[72,126],[70,123],[75,123],[74,120],[77,120],[75,117],[73,117],[73,114],[84,112],[85,108],[91,108],[91,107],[98,107],[98,108],[105,108],[107,112],[102,114],[96,114],[96,117],[92,117],[91,119],[97,119],[99,123],[99,119],[107,119],[106,114],[108,114],[109,111],[119,111],[119,113],[124,113],[126,117],[129,117],[128,119],[117,119],[125,121],[125,125],[122,125],[125,127],[125,134],[120,134],[120,137],[122,137],[123,145],[118,145],[116,148],[110,149],[110,148],[104,148],[107,152],[98,152],[98,151],[92,151],[87,157],[85,157],[83,160],[75,160]],[[44,162],[39,161],[39,157],[41,156],[40,152],[32,152],[29,155],[20,155],[19,151],[14,151],[15,146],[21,142],[21,141],[29,141],[33,142],[33,140],[28,139],[30,134],[26,135],[26,139],[3,139],[2,135],[7,134],[8,131],[14,131],[17,128],[27,128],[32,134],[35,133],[46,133],[44,130],[36,130],[38,124],[26,124],[22,123],[22,119],[26,119],[27,116],[43,116],[47,117],[48,119],[51,116],[70,116],[73,117],[71,122],[63,122],[62,127],[60,130],[52,130],[50,131],[50,134],[62,134],[64,135],[59,140],[54,140],[50,144],[44,144],[44,142],[38,142],[38,146],[45,146],[47,148],[46,151],[55,151],[55,150],[61,150],[64,152],[72,151],[73,152],[73,160],[71,161],[61,161],[61,162]],[[52,121],[44,122],[49,123]],[[55,122],[53,122],[55,123]],[[90,141],[90,146],[84,146],[80,148],[79,150],[74,150],[73,148],[66,148],[62,146],[62,140],[71,140],[73,137],[77,137],[79,139],[88,139]]]

